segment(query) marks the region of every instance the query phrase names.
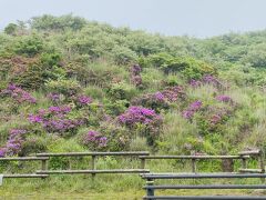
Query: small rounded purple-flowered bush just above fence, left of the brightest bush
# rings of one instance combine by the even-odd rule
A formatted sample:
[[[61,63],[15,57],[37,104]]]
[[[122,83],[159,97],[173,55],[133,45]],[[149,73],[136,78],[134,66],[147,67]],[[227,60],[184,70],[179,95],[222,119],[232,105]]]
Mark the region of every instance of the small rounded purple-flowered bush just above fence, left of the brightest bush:
[[[108,138],[98,131],[90,130],[83,137],[83,144],[89,147],[91,150],[103,149],[108,146]]]

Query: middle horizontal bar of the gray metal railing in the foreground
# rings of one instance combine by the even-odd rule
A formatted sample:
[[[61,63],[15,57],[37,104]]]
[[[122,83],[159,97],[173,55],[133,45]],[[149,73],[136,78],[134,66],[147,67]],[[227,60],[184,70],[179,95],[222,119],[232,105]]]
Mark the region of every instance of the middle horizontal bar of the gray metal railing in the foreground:
[[[143,189],[266,189],[266,184],[163,184],[145,186]]]

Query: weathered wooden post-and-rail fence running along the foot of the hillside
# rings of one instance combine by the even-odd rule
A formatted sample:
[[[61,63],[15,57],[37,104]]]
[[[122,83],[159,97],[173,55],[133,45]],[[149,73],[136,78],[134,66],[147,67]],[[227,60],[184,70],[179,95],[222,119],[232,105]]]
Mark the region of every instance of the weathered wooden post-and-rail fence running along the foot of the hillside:
[[[99,157],[134,157],[140,160],[140,167],[134,169],[98,169],[96,158]],[[91,164],[89,169],[70,169],[68,170],[50,170],[48,163],[52,157],[91,157]],[[259,169],[247,169],[247,160],[250,157],[258,159]],[[35,173],[30,174],[4,174],[4,178],[45,178],[49,174],[78,174],[78,173],[91,173],[95,177],[96,173],[149,173],[150,170],[145,169],[146,160],[157,159],[175,159],[175,160],[191,160],[192,172],[196,172],[196,162],[198,160],[211,160],[211,159],[229,159],[229,160],[242,160],[242,169],[239,172],[254,172],[264,173],[264,153],[260,150],[256,151],[243,151],[236,156],[150,156],[147,151],[127,151],[127,152],[62,152],[62,153],[37,153],[35,157],[18,157],[18,158],[0,158],[1,161],[41,161],[40,170]]]

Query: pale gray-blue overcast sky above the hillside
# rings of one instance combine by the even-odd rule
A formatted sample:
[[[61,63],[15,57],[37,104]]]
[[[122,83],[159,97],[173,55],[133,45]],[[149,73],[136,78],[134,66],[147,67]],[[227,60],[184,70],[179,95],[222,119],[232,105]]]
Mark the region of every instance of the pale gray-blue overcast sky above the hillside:
[[[266,0],[0,0],[0,29],[44,13],[167,36],[211,37],[266,29]]]

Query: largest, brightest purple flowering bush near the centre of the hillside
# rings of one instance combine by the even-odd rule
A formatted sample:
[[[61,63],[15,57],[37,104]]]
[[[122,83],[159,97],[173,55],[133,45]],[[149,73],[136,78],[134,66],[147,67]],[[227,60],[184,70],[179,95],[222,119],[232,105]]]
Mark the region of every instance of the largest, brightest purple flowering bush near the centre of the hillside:
[[[161,116],[156,114],[154,110],[143,107],[130,107],[117,117],[117,120],[120,123],[145,136],[149,144],[154,144],[163,122]]]

